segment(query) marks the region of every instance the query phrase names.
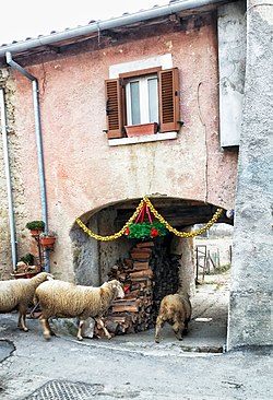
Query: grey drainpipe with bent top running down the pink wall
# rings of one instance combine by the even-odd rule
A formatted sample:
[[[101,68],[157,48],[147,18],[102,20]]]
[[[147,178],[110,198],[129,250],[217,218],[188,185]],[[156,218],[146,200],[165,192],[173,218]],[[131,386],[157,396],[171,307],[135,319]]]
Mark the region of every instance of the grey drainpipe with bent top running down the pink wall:
[[[46,180],[44,169],[44,154],[43,154],[43,142],[41,142],[41,129],[40,129],[40,113],[39,113],[39,98],[38,98],[38,81],[29,72],[27,72],[17,62],[13,61],[11,52],[5,52],[7,63],[13,69],[22,73],[25,78],[32,81],[33,86],[33,103],[34,103],[34,116],[35,116],[35,132],[37,143],[37,156],[38,156],[38,168],[39,168],[39,187],[40,187],[40,201],[41,201],[41,214],[43,221],[45,222],[45,232],[48,232],[48,217],[47,217],[47,198],[46,198]],[[48,250],[44,250],[45,271],[49,272],[49,257]]]

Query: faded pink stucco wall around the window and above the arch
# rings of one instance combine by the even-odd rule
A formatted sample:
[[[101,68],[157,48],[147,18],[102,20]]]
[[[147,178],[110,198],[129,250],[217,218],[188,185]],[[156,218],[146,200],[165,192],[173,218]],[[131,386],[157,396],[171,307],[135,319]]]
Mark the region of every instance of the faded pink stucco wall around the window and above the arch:
[[[171,54],[179,68],[178,139],[109,146],[105,79],[111,64]],[[54,264],[72,273],[69,232],[76,215],[115,201],[161,193],[233,207],[237,154],[218,140],[217,44],[211,25],[122,43],[26,68],[38,78],[49,226],[62,246]],[[32,86],[14,73],[28,217],[40,216]]]

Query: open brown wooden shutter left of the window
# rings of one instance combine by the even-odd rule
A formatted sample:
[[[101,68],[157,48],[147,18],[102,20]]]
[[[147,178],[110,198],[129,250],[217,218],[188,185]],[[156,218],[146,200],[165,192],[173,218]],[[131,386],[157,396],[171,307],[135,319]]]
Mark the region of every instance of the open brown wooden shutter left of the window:
[[[123,137],[122,93],[119,79],[105,81],[108,139]]]

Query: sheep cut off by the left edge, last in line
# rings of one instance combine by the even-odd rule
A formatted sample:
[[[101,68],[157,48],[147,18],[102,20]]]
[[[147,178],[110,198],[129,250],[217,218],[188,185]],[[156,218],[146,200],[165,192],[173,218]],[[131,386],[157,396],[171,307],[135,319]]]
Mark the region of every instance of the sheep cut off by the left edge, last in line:
[[[50,273],[40,272],[29,279],[0,281],[0,313],[10,313],[17,309],[17,327],[27,332],[28,328],[25,325],[25,317],[35,290],[41,282],[52,278]]]

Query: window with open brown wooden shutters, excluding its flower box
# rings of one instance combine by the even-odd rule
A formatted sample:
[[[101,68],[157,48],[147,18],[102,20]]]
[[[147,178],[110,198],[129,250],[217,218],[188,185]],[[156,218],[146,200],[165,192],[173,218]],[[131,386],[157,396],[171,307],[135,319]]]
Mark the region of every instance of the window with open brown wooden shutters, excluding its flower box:
[[[179,131],[179,74],[161,67],[106,80],[108,139],[127,137],[126,126],[156,122],[161,133]]]

